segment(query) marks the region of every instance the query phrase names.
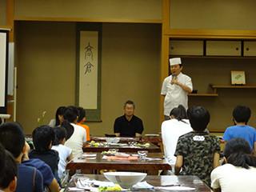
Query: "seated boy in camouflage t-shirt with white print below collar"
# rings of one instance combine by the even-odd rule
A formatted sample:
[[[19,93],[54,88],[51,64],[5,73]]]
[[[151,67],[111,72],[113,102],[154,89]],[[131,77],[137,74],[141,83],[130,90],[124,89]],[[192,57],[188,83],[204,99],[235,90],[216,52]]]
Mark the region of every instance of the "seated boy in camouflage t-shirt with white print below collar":
[[[190,125],[194,131],[178,138],[175,174],[196,175],[210,186],[210,172],[219,165],[219,141],[205,131],[210,122],[208,110],[194,106],[189,111]]]

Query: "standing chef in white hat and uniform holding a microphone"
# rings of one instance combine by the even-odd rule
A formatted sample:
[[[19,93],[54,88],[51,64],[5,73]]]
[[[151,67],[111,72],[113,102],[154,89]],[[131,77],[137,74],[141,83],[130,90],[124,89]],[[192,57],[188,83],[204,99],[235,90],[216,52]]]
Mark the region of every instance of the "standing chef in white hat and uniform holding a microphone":
[[[165,96],[164,115],[170,119],[170,110],[178,105],[188,108],[188,97],[193,90],[191,78],[182,74],[182,59],[170,58],[171,75],[162,82],[161,94]]]

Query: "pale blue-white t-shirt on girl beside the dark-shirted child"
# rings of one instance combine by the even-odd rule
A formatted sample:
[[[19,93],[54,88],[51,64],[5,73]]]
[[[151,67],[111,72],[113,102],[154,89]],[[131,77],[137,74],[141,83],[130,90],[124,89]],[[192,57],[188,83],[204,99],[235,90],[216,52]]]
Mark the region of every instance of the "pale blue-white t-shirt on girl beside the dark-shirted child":
[[[67,146],[63,146],[62,144],[59,144],[58,146],[52,146],[51,149],[58,151],[58,177],[62,179],[65,176],[66,159],[70,157],[72,150]]]

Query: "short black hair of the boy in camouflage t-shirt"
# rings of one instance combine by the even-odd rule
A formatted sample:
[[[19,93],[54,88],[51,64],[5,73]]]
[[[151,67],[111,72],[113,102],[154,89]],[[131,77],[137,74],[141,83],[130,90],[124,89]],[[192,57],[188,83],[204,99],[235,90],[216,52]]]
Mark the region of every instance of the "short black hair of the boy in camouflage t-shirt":
[[[208,123],[210,122],[210,114],[202,106],[193,106],[189,110],[190,125],[193,130],[202,132],[206,130]]]

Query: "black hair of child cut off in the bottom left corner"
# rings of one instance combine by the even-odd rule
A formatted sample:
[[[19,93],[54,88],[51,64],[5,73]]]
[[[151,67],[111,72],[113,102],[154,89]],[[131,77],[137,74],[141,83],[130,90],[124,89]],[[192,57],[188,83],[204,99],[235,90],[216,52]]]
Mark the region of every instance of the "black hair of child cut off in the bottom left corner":
[[[12,154],[5,150],[2,145],[0,145],[0,159],[3,162],[1,163],[0,189],[6,189],[10,182],[17,177],[18,168]]]

